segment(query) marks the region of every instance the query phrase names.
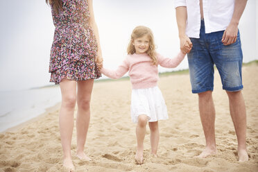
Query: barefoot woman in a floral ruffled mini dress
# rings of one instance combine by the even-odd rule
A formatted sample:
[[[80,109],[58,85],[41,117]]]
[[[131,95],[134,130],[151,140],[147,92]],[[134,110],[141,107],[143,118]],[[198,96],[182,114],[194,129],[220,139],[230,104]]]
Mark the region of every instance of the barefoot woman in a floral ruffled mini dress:
[[[92,0],[46,0],[51,6],[55,34],[51,47],[50,82],[60,84],[60,135],[64,152],[63,166],[74,171],[71,160],[71,137],[76,118],[77,157],[90,160],[84,153],[89,128],[89,103],[94,79],[101,77],[96,65],[102,66],[98,28],[94,19]],[[76,87],[78,87],[76,94]]]

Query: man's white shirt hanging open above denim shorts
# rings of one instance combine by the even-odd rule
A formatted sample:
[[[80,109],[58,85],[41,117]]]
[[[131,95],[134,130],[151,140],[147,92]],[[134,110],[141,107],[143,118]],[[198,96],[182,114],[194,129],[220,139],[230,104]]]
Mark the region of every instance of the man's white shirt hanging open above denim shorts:
[[[200,0],[174,0],[175,8],[187,6],[188,37],[200,37]],[[203,0],[205,33],[224,31],[234,12],[234,0]]]

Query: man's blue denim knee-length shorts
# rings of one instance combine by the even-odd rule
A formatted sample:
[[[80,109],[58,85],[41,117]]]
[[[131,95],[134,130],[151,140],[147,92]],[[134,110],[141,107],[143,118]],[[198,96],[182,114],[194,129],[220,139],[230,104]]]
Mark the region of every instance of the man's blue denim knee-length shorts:
[[[234,44],[223,45],[224,31],[205,33],[204,21],[201,21],[200,38],[190,38],[193,48],[188,53],[189,73],[193,93],[213,91],[214,65],[221,76],[223,89],[236,92],[243,89],[240,34]]]

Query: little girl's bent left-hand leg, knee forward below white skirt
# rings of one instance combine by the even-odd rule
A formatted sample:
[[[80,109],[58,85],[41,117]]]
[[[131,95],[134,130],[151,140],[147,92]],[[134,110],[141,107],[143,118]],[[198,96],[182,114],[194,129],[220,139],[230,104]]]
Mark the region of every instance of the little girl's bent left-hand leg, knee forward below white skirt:
[[[147,121],[148,117],[146,116],[146,114],[139,115],[136,127],[137,152],[135,155],[135,161],[137,164],[144,163],[144,137],[146,134]]]

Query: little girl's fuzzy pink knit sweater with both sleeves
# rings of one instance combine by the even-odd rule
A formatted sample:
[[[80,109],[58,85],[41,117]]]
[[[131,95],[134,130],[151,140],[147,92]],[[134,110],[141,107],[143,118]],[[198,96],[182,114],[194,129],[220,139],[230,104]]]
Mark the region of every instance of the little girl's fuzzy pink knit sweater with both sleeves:
[[[180,51],[175,58],[164,58],[157,53],[157,62],[158,65],[162,67],[174,68],[180,64],[184,56],[185,54],[182,53],[182,51]],[[128,55],[126,59],[123,60],[122,65],[115,71],[105,68],[101,69],[102,74],[112,79],[121,78],[128,71],[132,89],[155,87],[157,80],[159,80],[157,66],[152,65],[151,59],[146,53]]]

